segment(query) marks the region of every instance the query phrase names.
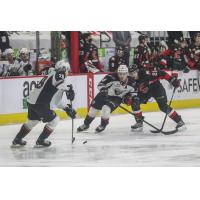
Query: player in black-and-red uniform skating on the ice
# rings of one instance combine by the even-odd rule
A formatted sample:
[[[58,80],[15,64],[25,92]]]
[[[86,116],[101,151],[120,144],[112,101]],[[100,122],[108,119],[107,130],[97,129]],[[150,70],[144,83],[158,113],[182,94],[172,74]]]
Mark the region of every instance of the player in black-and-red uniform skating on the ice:
[[[162,70],[139,69],[137,65],[132,65],[129,68],[130,75],[137,81],[138,97],[137,101],[132,101],[130,97],[124,100],[128,105],[132,105],[133,113],[135,113],[136,124],[131,126],[132,130],[141,131],[143,128],[142,111],[140,104],[146,104],[148,100],[153,97],[160,110],[167,113],[168,116],[177,123],[176,128],[184,126],[181,116],[169,107],[167,104],[167,95],[165,88],[160,83],[160,79],[165,79],[174,87],[179,87],[180,82],[176,77],[168,75]]]

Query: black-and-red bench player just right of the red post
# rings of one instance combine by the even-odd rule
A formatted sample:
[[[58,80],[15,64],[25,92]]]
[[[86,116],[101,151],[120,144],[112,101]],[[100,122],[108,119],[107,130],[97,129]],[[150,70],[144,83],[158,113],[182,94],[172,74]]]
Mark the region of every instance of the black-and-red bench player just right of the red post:
[[[92,37],[90,33],[85,33],[84,38],[84,63],[81,65],[81,72],[92,72],[103,71],[98,57],[98,48],[92,44]]]

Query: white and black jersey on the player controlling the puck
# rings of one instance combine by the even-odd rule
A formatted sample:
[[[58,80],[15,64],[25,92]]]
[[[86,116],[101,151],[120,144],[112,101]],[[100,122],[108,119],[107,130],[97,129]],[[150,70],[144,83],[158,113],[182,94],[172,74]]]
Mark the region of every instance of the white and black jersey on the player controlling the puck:
[[[69,87],[64,72],[52,72],[44,77],[31,91],[28,103],[64,108],[66,105],[62,103],[62,96],[67,90],[69,90]]]

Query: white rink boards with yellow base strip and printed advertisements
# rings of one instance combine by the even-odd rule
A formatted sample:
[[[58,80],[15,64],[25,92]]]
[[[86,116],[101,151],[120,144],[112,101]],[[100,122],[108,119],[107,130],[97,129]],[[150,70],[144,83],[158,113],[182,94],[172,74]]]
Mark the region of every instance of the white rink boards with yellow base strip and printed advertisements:
[[[67,78],[73,84],[76,98],[73,106],[77,109],[77,116],[84,117],[94,96],[98,93],[97,84],[105,76],[102,74],[79,74]],[[187,74],[178,72],[181,86],[177,89],[172,106],[174,108],[200,107],[200,82],[198,72],[190,71]],[[0,79],[0,124],[22,123],[27,117],[27,97],[43,76],[15,77]],[[170,98],[172,87],[167,81],[162,80]],[[64,99],[63,101],[67,100]],[[53,107],[52,107],[53,108]],[[130,108],[128,108],[130,109]],[[153,99],[148,104],[142,105],[143,111],[157,111],[158,106]],[[66,119],[65,112],[56,111],[61,119]],[[116,109],[113,114],[124,114],[121,109]]]

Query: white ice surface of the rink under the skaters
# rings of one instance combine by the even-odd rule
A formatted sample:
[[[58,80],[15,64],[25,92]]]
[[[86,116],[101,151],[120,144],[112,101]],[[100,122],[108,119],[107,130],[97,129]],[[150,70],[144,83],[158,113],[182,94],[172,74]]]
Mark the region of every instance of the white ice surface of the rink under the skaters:
[[[131,115],[112,116],[103,133],[96,134],[96,118],[88,132],[75,133],[71,144],[71,120],[61,121],[50,137],[52,146],[34,148],[43,124],[35,127],[26,137],[23,148],[10,148],[11,141],[20,128],[18,125],[0,126],[0,166],[200,166],[199,108],[178,110],[186,122],[187,130],[174,135],[144,131],[131,132],[134,122]],[[164,114],[145,113],[145,119],[160,127]],[[83,119],[75,120],[75,128]],[[167,120],[165,130],[175,123]],[[87,140],[86,144],[83,144]]]

